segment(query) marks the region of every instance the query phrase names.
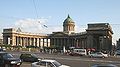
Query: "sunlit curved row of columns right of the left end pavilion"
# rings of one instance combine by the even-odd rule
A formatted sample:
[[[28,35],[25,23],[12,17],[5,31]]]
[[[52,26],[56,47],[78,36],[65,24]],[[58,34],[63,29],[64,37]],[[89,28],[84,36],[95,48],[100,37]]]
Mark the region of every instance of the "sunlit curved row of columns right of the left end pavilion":
[[[47,38],[31,38],[31,37],[16,37],[16,45],[21,46],[37,46],[37,47],[49,47],[50,39]]]

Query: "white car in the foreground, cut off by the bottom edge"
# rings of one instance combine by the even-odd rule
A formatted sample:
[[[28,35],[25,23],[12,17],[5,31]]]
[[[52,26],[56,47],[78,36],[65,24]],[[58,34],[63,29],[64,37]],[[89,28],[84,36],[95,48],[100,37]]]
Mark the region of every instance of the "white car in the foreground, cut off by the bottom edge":
[[[70,66],[62,65],[56,60],[43,59],[40,60],[39,62],[32,63],[31,67],[70,67]]]

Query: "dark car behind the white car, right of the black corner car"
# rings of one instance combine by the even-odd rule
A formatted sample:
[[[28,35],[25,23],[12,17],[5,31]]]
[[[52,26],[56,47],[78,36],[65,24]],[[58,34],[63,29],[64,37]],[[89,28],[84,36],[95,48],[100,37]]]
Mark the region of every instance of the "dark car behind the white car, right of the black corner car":
[[[37,62],[38,57],[35,54],[24,53],[20,55],[20,59],[24,62]]]

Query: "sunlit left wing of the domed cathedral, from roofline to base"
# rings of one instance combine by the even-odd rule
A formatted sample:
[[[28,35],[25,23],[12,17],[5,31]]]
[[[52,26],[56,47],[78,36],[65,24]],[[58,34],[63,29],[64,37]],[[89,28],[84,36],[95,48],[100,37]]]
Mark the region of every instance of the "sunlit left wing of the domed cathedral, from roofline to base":
[[[12,45],[12,46],[38,46],[38,47],[49,47],[49,39],[47,35],[43,34],[33,34],[25,33],[20,30],[20,28],[13,29],[4,29],[3,30],[3,44]]]

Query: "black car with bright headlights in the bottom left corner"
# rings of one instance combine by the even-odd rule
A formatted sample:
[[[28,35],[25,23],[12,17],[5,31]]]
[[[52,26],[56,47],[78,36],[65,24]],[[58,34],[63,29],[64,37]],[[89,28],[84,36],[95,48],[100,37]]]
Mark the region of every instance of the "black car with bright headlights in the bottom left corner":
[[[2,67],[20,67],[22,61],[15,58],[12,54],[7,52],[0,52],[0,66]]]

